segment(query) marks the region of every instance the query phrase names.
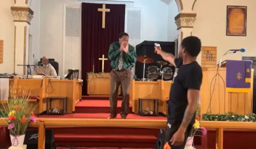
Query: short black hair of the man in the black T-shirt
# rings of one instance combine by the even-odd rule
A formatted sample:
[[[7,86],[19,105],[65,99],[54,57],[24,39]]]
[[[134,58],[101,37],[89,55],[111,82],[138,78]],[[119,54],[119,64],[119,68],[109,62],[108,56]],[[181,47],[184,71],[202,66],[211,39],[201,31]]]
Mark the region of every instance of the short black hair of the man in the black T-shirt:
[[[181,46],[186,49],[189,55],[197,57],[201,51],[201,41],[196,36],[188,36],[181,42]]]

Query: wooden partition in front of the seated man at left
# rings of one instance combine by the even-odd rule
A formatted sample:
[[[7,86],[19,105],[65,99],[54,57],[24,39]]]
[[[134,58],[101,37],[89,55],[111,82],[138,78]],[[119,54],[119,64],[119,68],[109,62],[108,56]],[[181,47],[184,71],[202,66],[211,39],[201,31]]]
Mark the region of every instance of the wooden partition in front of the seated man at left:
[[[75,111],[76,101],[82,98],[82,83],[79,80],[55,80],[55,79],[19,79],[15,77],[14,81],[10,79],[10,84],[18,89],[31,89],[33,96],[39,96],[39,108],[35,111],[42,113],[46,110],[45,97],[48,96],[65,96],[67,99],[67,113]],[[35,104],[35,103],[31,103]],[[63,106],[62,102],[54,100],[52,107]]]

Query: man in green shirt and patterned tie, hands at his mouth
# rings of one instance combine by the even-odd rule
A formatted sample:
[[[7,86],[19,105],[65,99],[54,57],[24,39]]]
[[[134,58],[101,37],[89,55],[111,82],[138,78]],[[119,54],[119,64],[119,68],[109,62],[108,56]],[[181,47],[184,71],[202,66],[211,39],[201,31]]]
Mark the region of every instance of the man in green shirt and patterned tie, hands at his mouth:
[[[121,118],[125,119],[129,113],[129,91],[132,79],[131,68],[136,62],[136,52],[128,43],[129,35],[120,33],[119,41],[109,46],[110,72],[110,115],[108,119],[116,117],[118,87],[121,84],[123,92]]]

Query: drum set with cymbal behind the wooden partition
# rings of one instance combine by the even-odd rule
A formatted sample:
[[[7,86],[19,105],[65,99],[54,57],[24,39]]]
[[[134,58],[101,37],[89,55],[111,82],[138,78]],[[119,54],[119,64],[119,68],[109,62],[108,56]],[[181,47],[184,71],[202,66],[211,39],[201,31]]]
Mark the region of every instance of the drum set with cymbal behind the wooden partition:
[[[157,79],[160,76],[162,76],[162,80],[170,80],[173,77],[173,71],[171,67],[164,67],[162,69],[163,66],[167,65],[167,62],[163,62],[163,61],[157,61],[156,63],[160,66],[149,66],[147,67],[146,70],[146,75],[147,78],[145,78],[145,64],[150,64],[153,63],[154,60],[151,57],[148,57],[146,55],[142,55],[137,57],[137,61],[141,62],[144,64],[143,66],[143,78],[141,79],[141,81],[153,81],[155,79]],[[173,66],[171,64],[168,64],[168,66]]]

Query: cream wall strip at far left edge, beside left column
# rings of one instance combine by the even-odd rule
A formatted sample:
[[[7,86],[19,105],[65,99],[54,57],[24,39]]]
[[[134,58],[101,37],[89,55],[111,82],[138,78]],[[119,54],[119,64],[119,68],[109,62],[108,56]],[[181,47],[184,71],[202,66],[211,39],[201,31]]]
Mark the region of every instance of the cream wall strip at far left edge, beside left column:
[[[0,73],[13,73],[14,63],[14,22],[11,15],[11,6],[14,0],[0,1],[0,40],[4,40],[3,63],[0,64]]]

